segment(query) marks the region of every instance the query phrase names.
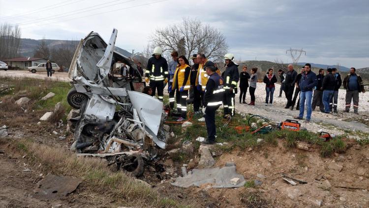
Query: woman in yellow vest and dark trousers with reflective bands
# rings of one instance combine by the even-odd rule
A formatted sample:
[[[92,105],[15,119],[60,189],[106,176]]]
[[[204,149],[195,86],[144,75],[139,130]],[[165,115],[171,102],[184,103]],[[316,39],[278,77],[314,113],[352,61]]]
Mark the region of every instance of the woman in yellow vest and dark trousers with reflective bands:
[[[186,99],[190,88],[189,74],[191,72],[191,67],[189,66],[188,60],[183,55],[178,58],[178,63],[179,66],[174,72],[173,88],[177,89],[176,102],[178,112],[182,113],[182,116],[177,121],[183,121],[187,114]]]

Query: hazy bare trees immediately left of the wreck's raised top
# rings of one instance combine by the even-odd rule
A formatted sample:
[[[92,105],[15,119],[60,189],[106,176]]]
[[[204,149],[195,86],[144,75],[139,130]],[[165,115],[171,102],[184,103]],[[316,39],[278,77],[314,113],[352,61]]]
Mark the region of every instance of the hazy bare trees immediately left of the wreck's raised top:
[[[61,67],[69,68],[77,46],[76,40],[63,40],[60,47],[51,49],[50,58]]]

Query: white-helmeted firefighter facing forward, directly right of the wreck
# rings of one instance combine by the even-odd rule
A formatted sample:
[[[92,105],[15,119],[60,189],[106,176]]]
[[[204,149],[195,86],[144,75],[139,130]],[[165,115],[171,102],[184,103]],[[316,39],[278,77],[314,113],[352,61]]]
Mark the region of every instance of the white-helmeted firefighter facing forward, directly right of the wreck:
[[[153,96],[157,90],[157,98],[163,101],[164,83],[168,83],[168,64],[167,60],[161,56],[163,50],[156,46],[154,48],[153,57],[147,63],[145,71],[145,81],[149,82],[150,87],[153,88]]]

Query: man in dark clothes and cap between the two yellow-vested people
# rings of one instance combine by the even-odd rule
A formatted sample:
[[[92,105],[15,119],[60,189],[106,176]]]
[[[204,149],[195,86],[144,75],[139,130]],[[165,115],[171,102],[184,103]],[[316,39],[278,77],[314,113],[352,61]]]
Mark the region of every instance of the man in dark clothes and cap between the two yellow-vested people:
[[[192,95],[190,95],[189,97],[192,98],[193,100],[193,112],[197,112],[199,113],[199,109],[200,109],[200,105],[201,105],[201,96],[200,93],[201,91],[198,91],[196,88],[196,75],[197,75],[197,70],[199,69],[199,63],[197,62],[197,54],[193,54],[191,57],[191,60],[193,62],[193,65],[191,67],[191,73],[189,75],[190,77],[190,84],[191,84],[191,90],[192,91]]]

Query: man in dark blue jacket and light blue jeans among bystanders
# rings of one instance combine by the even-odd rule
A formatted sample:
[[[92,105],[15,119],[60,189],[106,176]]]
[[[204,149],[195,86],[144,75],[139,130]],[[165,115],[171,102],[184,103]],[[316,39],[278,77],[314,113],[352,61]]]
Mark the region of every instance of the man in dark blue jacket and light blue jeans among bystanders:
[[[311,71],[311,65],[305,64],[305,73],[300,79],[300,114],[295,116],[295,119],[303,119],[305,105],[307,107],[306,112],[306,123],[310,122],[311,118],[311,99],[312,99],[312,89],[318,84],[316,79],[316,74]]]

